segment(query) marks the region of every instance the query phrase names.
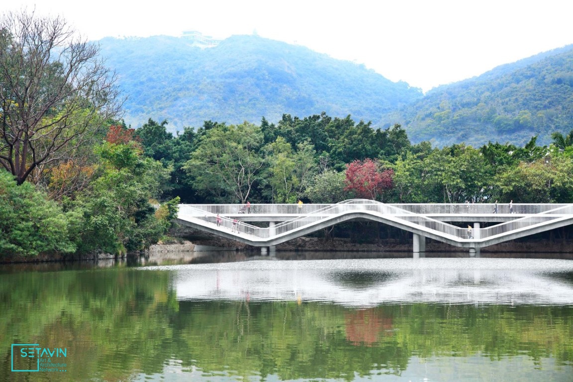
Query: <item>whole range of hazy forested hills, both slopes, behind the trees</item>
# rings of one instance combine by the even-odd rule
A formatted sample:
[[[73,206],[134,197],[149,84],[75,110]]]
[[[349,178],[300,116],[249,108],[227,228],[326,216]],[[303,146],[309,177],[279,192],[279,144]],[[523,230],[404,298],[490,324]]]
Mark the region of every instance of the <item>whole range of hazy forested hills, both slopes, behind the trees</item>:
[[[204,121],[274,123],[282,115],[321,112],[372,127],[400,123],[414,142],[474,147],[524,145],[532,136],[573,126],[573,46],[501,65],[479,77],[439,86],[425,96],[405,82],[303,46],[233,36],[212,48],[186,38],[104,38],[107,65],[128,96],[125,121],[168,120],[170,131]]]

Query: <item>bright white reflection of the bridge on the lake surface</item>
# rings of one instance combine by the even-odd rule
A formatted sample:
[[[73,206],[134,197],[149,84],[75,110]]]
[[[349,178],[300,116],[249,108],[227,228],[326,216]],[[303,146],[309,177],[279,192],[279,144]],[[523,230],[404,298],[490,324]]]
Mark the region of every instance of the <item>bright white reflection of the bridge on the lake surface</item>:
[[[160,267],[164,268],[164,267]],[[338,259],[177,266],[179,300],[323,301],[343,306],[573,304],[567,260]]]

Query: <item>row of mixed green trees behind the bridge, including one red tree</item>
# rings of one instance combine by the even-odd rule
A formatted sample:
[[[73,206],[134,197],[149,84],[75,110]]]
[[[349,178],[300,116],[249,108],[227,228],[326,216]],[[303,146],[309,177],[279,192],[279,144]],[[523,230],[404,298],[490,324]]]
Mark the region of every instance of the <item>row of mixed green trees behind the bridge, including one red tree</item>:
[[[325,113],[278,123],[206,121],[172,136],[167,121],[135,131],[144,155],[171,171],[164,197],[186,203],[312,203],[369,198],[399,203],[571,202],[571,133],[524,147],[490,142],[411,144],[400,125],[372,129]]]

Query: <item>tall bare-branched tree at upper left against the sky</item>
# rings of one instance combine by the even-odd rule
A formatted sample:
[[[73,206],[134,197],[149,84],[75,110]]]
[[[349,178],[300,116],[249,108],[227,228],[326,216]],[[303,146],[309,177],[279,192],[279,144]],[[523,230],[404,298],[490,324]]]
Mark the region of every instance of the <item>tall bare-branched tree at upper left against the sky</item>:
[[[0,18],[0,164],[17,184],[68,160],[119,113],[115,74],[99,52],[60,17]]]

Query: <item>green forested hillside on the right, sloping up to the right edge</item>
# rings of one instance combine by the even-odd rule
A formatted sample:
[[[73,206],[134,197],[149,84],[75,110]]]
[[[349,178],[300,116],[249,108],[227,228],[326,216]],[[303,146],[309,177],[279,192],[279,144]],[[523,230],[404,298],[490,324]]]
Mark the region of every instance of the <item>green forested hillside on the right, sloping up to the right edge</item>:
[[[573,45],[439,86],[383,119],[401,123],[413,141],[442,146],[488,141],[523,145],[573,127]]]

